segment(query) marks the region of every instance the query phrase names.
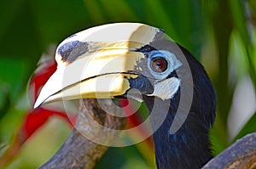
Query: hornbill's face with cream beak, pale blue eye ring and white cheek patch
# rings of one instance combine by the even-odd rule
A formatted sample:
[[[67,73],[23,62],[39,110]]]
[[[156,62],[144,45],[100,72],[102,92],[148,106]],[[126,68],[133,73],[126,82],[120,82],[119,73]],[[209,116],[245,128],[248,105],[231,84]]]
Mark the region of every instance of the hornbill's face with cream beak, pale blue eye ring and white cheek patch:
[[[180,87],[182,56],[176,43],[149,25],[120,23],[81,31],[56,49],[57,70],[35,107],[62,99],[171,99]]]

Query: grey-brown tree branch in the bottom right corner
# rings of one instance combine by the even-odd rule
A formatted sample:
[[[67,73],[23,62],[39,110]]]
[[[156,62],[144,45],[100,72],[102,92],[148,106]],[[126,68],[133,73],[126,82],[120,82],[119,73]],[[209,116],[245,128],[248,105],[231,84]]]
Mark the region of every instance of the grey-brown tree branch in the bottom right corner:
[[[217,155],[202,169],[256,168],[256,132],[236,141]]]

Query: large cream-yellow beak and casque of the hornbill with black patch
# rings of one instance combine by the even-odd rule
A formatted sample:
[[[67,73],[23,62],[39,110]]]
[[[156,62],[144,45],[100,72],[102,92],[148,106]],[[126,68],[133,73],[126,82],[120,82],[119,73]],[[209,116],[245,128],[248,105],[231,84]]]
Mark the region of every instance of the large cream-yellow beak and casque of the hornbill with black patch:
[[[42,88],[35,108],[60,100],[111,99],[131,88],[131,79],[143,76],[137,52],[159,33],[136,23],[102,25],[79,32],[56,50],[58,68]],[[82,51],[82,52],[81,52]]]

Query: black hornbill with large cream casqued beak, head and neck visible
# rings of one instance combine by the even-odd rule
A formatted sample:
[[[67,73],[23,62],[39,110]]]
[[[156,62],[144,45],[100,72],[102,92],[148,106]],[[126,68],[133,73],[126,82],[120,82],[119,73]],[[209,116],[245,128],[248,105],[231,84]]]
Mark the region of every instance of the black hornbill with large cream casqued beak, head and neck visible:
[[[35,108],[60,100],[131,98],[148,107],[159,169],[201,168],[212,158],[215,93],[203,66],[163,30],[100,25],[56,49],[57,70]]]

